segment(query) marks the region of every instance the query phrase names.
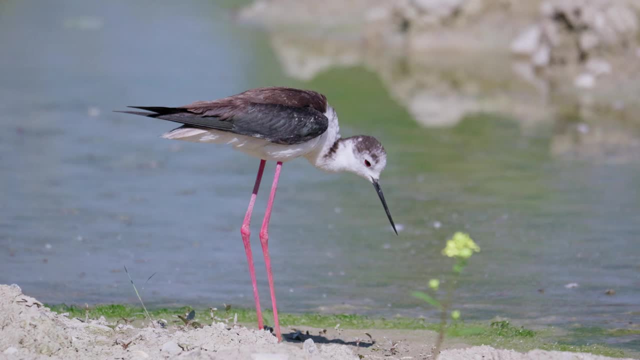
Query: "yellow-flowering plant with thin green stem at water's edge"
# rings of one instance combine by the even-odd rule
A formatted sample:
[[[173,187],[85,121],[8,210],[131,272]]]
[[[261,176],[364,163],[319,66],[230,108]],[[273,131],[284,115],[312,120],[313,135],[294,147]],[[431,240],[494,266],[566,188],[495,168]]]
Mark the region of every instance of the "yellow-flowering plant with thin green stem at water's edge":
[[[447,284],[447,292],[444,301],[441,302],[435,297],[436,292],[440,288],[439,279],[429,280],[429,289],[431,289],[433,295],[429,295],[422,291],[414,291],[412,293],[413,297],[423,300],[427,304],[440,310],[440,327],[438,329],[438,340],[436,340],[435,350],[433,352],[435,354],[434,359],[437,359],[438,354],[440,354],[440,347],[442,347],[442,341],[444,341],[444,334],[447,328],[449,316],[451,316],[451,319],[454,322],[460,319],[461,314],[459,310],[453,310],[449,313],[449,307],[451,306],[453,299],[453,292],[458,284],[458,279],[460,279],[460,274],[465,267],[467,267],[468,259],[471,258],[474,252],[479,251],[480,247],[476,245],[474,240],[472,240],[468,234],[460,232],[455,233],[451,239],[447,240],[446,247],[442,249],[442,254],[444,256],[454,258],[456,260],[456,263],[454,263],[452,267],[451,281]]]

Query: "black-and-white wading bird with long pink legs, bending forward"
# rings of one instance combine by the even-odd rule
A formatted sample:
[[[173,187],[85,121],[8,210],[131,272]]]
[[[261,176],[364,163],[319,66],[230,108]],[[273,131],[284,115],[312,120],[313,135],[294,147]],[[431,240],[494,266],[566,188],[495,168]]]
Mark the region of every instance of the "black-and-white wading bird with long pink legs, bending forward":
[[[273,290],[268,241],[269,219],[271,218],[271,208],[278,187],[282,163],[303,156],[320,170],[327,172],[346,171],[364,177],[376,189],[389,222],[397,234],[396,225],[391,218],[380,183],[378,183],[380,173],[387,165],[387,152],[381,143],[372,136],[358,135],[341,138],[338,117],[322,94],[295,88],[268,87],[247,90],[241,94],[214,101],[197,101],[177,108],[129,107],[145,111],[119,112],[182,124],[182,126],[165,133],[163,138],[189,142],[225,143],[232,145],[236,150],[260,159],[253,193],[240,230],[249,264],[255,310],[260,329],[263,328],[262,311],[260,310],[253,255],[249,242],[249,224],[264,164],[266,161],[277,161],[271,185],[271,195],[269,195],[269,202],[260,229],[260,243],[267,269],[271,303],[273,304],[273,323],[278,341],[282,341],[282,335],[280,334],[278,309]]]

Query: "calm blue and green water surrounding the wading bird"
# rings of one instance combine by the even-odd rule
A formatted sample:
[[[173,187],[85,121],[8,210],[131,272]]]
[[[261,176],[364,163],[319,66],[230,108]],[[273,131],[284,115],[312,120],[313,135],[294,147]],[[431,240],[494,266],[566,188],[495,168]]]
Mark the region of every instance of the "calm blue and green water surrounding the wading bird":
[[[429,107],[396,87],[411,72],[366,61],[303,80],[282,44],[230,19],[209,1],[0,3],[0,283],[49,303],[134,303],[126,265],[139,283],[156,273],[150,304],[252,306],[239,226],[259,161],[111,110],[291,85],[328,95],[343,135],[385,144],[402,230],[371,184],[286,163],[269,241],[281,311],[434,316],[408,294],[447,271],[440,250],[460,230],[482,247],[456,299],[467,319],[640,322],[637,123],[507,108],[425,126],[458,101]],[[265,174],[252,240],[268,299],[257,229],[273,164]]]

